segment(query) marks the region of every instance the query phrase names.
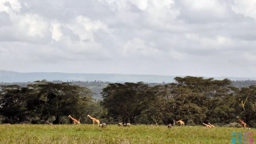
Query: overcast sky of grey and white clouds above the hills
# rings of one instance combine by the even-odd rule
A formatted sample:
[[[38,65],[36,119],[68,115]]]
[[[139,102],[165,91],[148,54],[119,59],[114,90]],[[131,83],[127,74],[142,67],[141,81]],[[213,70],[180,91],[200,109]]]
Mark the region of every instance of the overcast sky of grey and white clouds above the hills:
[[[256,0],[0,0],[0,69],[254,77]]]

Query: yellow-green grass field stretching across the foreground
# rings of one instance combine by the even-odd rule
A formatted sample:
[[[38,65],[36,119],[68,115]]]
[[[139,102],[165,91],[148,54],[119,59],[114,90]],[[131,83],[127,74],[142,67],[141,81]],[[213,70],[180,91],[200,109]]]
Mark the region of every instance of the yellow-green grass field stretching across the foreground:
[[[253,132],[256,142],[255,129],[206,128],[203,126],[179,127],[168,129],[167,126],[131,125],[118,127],[108,125],[100,128],[98,125],[0,125],[0,143],[7,144],[84,144],[84,143],[175,143],[175,144],[225,144],[231,143],[231,133]],[[248,141],[247,136],[247,141]],[[251,137],[251,136],[250,136]],[[238,136],[236,138],[238,143]],[[254,142],[254,143],[255,143]],[[243,142],[242,142],[243,143]],[[248,143],[248,142],[247,142]]]

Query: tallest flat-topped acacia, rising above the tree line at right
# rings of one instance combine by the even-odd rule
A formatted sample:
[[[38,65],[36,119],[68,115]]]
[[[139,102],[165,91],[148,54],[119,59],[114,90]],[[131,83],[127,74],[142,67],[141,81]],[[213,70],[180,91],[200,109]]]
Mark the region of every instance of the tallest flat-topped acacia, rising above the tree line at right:
[[[203,77],[193,76],[175,77],[174,79],[178,82],[178,85],[198,93],[192,102],[197,104],[202,113],[205,114],[204,123],[208,123],[217,108],[224,104],[223,99],[228,96],[231,85],[229,79],[214,80],[213,78],[204,79]]]

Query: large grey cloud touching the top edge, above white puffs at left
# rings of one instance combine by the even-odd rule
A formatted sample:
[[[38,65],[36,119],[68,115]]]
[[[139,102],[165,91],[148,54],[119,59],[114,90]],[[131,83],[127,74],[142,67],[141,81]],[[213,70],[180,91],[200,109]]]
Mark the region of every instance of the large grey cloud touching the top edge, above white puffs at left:
[[[75,16],[83,15],[91,19],[104,19],[104,17],[114,16],[106,3],[90,0],[44,0],[29,1],[21,0],[24,13],[38,13],[49,19],[58,19],[60,22],[71,22]],[[27,8],[25,3],[29,5]]]

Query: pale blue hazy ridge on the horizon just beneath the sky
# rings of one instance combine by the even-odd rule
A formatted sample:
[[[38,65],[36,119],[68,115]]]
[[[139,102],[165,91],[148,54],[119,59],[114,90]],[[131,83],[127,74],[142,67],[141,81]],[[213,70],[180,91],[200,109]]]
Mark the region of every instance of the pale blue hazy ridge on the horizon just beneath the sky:
[[[0,82],[33,82],[36,80],[62,80],[62,81],[97,81],[104,82],[173,82],[176,76],[139,75],[139,74],[104,74],[104,73],[60,73],[60,72],[34,72],[19,73],[14,71],[0,70]],[[183,77],[183,76],[180,76]],[[210,77],[205,77],[210,78]],[[256,80],[256,77],[214,77],[221,80]]]

